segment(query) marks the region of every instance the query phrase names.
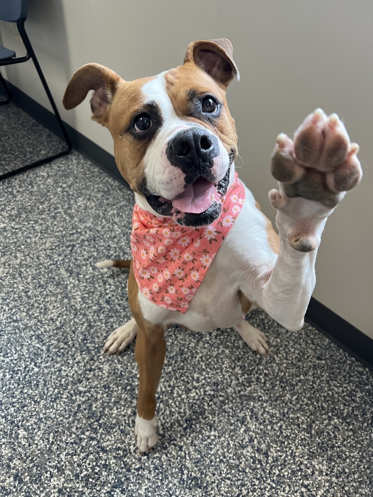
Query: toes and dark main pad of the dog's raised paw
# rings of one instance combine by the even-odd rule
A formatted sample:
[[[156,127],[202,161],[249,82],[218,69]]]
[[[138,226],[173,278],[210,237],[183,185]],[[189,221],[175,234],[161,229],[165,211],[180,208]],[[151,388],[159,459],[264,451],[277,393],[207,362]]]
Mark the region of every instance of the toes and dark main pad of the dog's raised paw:
[[[271,170],[288,198],[303,197],[333,208],[362,178],[358,152],[337,114],[327,116],[316,109],[293,140],[283,133],[278,136]],[[273,205],[281,208],[279,199],[274,200]]]

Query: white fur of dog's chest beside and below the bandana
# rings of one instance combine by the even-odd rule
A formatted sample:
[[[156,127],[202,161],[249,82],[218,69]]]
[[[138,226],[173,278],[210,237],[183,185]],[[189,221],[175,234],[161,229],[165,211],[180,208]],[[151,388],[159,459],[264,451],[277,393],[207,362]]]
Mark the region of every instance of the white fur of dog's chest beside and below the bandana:
[[[248,282],[276,260],[266,232],[267,218],[245,188],[245,203],[227,238],[209,266],[185,314],[157,306],[139,292],[143,315],[165,325],[179,324],[193,331],[229,328],[242,318],[239,291],[250,299]]]

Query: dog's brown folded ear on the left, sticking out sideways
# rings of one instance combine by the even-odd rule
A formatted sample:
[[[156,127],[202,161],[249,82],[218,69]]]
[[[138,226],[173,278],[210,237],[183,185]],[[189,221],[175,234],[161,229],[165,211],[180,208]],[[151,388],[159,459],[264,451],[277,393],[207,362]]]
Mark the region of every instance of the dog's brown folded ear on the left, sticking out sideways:
[[[107,126],[108,110],[118,84],[123,81],[114,71],[99,64],[86,64],[78,69],[67,85],[63,104],[70,110],[83,102],[87,93],[94,90],[91,98],[92,119]]]

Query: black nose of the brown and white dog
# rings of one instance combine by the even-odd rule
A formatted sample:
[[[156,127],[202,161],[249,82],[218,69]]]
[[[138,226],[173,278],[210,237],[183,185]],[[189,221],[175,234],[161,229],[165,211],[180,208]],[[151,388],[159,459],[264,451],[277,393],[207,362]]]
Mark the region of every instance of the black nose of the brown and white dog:
[[[187,175],[208,175],[219,154],[217,138],[200,128],[180,131],[168,144],[166,155],[173,166]]]

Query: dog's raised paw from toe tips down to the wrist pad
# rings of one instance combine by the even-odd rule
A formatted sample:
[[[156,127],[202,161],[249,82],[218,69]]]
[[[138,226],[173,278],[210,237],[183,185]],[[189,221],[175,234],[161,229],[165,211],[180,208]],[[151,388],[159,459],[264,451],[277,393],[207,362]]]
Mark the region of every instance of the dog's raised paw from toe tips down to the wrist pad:
[[[272,175],[280,188],[269,196],[278,209],[280,234],[292,248],[317,248],[320,223],[362,178],[358,151],[337,114],[327,116],[322,109],[305,118],[293,140],[283,133],[278,136]]]

